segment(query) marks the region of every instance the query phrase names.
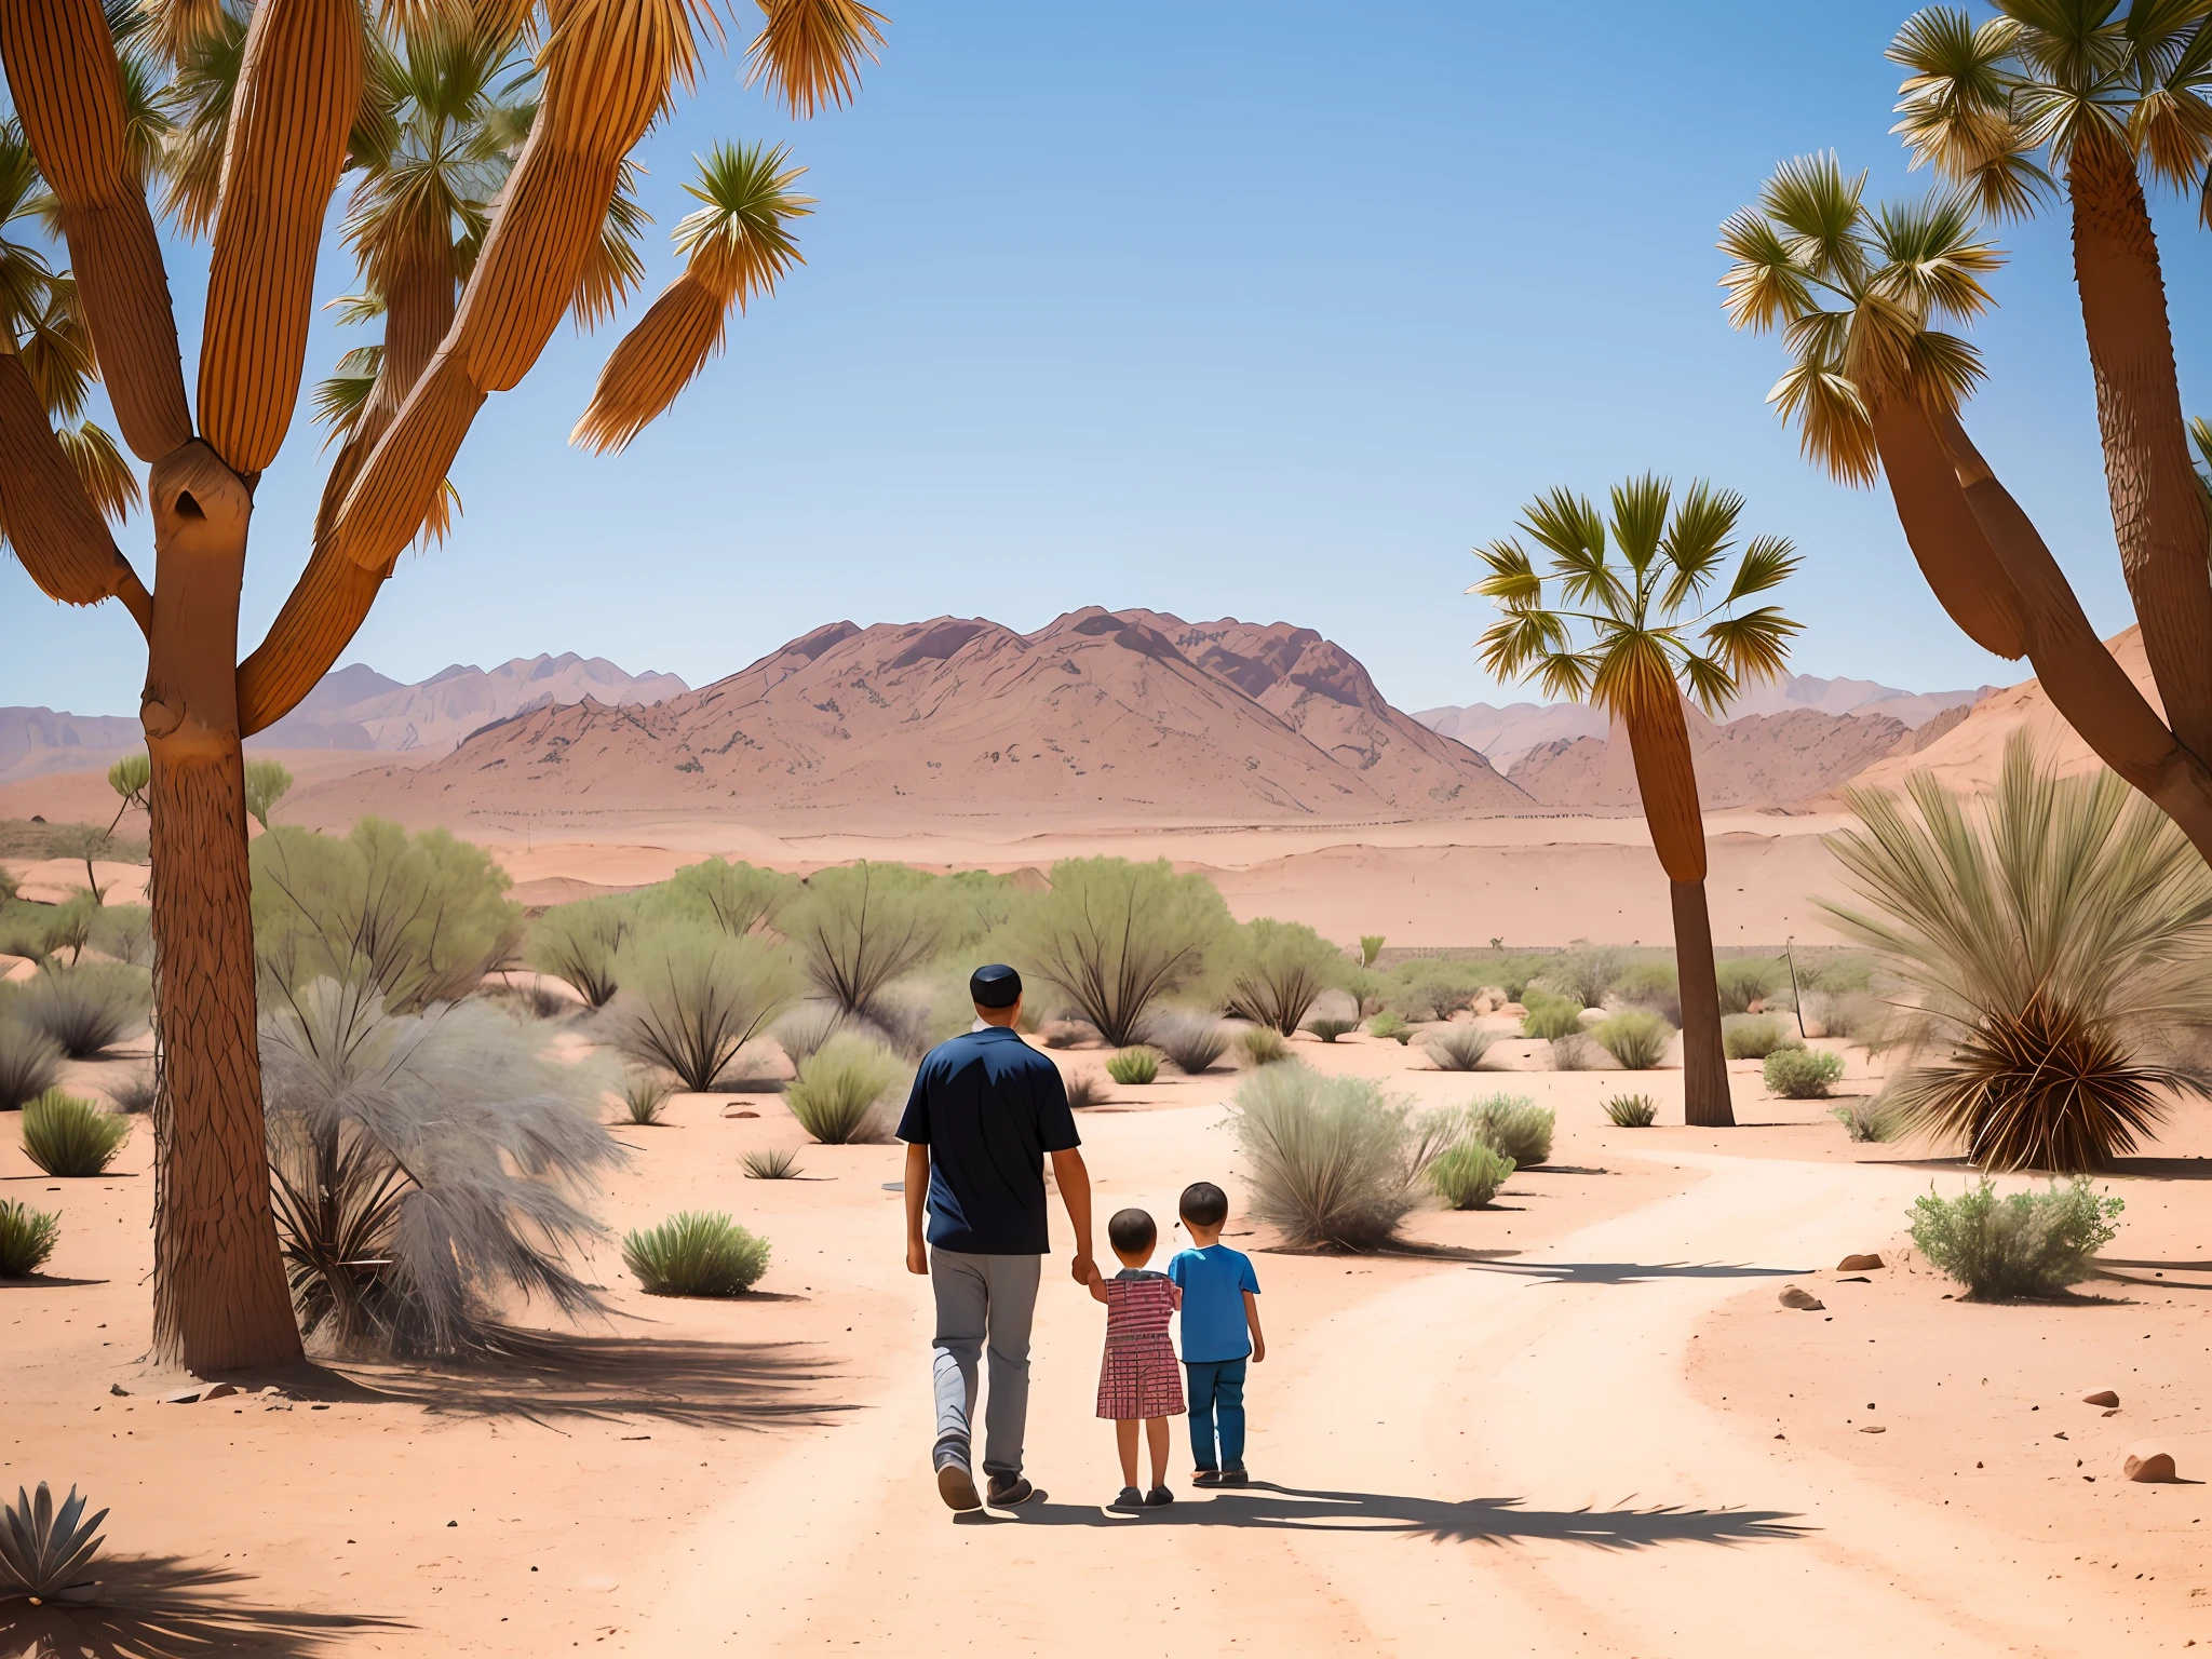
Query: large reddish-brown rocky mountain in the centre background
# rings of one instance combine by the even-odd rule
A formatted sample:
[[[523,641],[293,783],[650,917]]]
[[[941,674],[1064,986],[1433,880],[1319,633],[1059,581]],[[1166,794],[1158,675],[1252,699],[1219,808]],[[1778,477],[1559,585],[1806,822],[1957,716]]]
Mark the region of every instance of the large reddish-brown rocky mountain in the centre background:
[[[1528,805],[1480,754],[1383,701],[1312,628],[1086,608],[1033,635],[960,617],[830,624],[659,706],[531,710],[436,765],[301,792],[288,816],[728,814],[836,832],[1004,814],[1360,823]]]

